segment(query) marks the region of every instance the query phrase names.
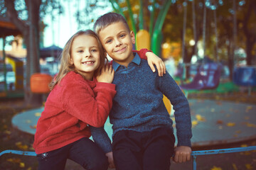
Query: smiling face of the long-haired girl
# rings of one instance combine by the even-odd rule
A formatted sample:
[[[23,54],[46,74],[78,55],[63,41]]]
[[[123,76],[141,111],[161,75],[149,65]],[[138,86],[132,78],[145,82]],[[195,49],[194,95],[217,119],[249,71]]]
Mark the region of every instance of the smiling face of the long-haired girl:
[[[85,79],[92,80],[95,70],[100,66],[100,48],[97,39],[90,35],[79,35],[71,47],[71,64]]]

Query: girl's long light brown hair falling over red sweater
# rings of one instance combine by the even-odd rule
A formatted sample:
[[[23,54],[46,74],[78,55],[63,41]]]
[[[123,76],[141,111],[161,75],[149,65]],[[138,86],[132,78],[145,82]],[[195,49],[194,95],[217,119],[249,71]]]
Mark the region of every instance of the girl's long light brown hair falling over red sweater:
[[[105,65],[105,61],[107,60],[106,54],[103,50],[102,44],[100,43],[100,39],[97,37],[96,33],[93,32],[92,30],[80,30],[77,33],[75,33],[65,44],[63,48],[63,52],[60,55],[60,70],[57,74],[57,76],[53,79],[53,81],[49,84],[50,90],[53,90],[54,86],[56,84],[59,84],[61,79],[65,77],[68,72],[77,72],[78,74],[81,74],[77,69],[75,69],[74,64],[70,64],[70,59],[71,59],[71,47],[73,44],[73,41],[75,38],[77,38],[79,35],[89,35],[94,38],[96,38],[98,44],[99,44],[99,49],[100,49],[100,66],[95,70],[95,76],[100,74],[100,70],[102,67]],[[82,74],[81,74],[82,75]],[[83,77],[83,76],[82,76]]]

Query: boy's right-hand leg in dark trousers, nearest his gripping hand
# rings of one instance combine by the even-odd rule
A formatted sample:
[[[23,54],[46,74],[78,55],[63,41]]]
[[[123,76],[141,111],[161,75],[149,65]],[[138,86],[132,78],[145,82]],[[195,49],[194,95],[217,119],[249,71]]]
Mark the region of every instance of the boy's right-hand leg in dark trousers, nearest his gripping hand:
[[[146,170],[169,170],[170,159],[174,154],[175,137],[172,130],[159,128],[151,132],[146,142],[143,166]]]

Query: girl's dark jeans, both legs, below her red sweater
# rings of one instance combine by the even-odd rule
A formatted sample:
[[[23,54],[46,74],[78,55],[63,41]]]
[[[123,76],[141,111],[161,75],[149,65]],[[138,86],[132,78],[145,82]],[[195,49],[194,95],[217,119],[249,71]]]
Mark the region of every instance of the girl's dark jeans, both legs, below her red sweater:
[[[87,170],[108,169],[108,161],[104,152],[88,138],[82,138],[60,149],[38,154],[36,157],[39,170],[63,170],[67,159],[77,162]]]

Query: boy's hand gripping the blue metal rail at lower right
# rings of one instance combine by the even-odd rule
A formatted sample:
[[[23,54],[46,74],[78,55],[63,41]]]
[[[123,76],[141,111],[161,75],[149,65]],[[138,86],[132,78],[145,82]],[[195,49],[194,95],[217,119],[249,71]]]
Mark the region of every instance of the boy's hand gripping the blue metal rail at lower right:
[[[174,162],[182,163],[191,159],[191,147],[179,146],[174,149]]]

